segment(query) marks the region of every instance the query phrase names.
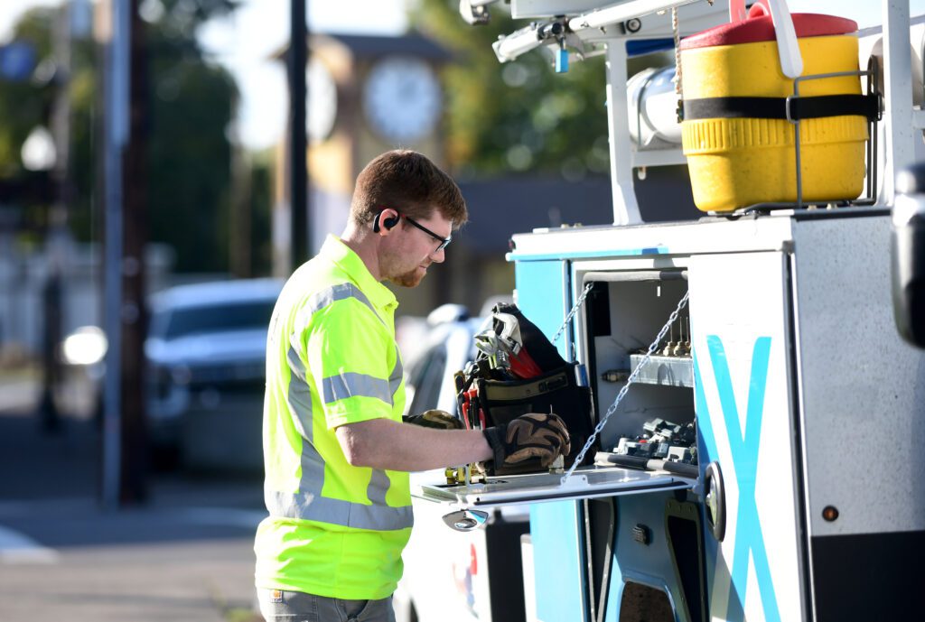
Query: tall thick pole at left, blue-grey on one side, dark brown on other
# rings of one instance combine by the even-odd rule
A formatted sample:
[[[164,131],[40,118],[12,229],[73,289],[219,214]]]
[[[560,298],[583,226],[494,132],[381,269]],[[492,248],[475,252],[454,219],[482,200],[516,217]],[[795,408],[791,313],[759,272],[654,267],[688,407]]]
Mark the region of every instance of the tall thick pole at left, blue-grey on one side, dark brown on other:
[[[143,338],[145,169],[144,38],[139,0],[107,0],[105,44],[105,329],[103,500],[146,495]]]

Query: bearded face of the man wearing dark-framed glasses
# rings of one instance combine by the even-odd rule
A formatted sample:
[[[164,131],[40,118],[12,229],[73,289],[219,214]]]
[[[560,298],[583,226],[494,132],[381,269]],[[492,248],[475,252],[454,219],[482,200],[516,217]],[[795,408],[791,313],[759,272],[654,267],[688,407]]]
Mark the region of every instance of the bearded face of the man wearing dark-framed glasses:
[[[428,218],[415,218],[418,225],[438,236],[434,238],[405,220],[402,218],[401,223],[392,230],[389,236],[392,243],[383,253],[380,269],[384,279],[402,287],[416,287],[427,274],[427,267],[431,263],[442,263],[446,258],[445,251],[438,250],[438,238],[450,238],[452,222],[437,210]]]

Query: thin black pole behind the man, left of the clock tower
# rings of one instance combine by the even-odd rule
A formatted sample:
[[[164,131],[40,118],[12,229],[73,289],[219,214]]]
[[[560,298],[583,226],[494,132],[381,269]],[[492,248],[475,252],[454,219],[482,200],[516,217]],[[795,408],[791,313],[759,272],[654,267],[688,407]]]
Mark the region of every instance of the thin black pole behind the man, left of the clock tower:
[[[305,69],[308,67],[307,0],[290,0],[290,266],[308,259],[308,165]]]

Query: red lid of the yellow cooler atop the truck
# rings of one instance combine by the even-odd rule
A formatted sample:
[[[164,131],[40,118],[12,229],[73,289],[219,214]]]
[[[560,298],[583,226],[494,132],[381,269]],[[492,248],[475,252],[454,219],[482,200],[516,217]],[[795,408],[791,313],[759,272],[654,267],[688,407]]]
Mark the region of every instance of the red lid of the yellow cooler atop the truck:
[[[794,13],[794,29],[798,38],[824,37],[834,34],[847,34],[857,30],[857,22],[852,19],[837,18],[833,15],[817,13]],[[754,5],[748,11],[748,17],[742,21],[722,24],[687,37],[681,42],[682,50],[714,45],[734,45],[736,43],[757,43],[774,41],[774,22],[764,6]]]

